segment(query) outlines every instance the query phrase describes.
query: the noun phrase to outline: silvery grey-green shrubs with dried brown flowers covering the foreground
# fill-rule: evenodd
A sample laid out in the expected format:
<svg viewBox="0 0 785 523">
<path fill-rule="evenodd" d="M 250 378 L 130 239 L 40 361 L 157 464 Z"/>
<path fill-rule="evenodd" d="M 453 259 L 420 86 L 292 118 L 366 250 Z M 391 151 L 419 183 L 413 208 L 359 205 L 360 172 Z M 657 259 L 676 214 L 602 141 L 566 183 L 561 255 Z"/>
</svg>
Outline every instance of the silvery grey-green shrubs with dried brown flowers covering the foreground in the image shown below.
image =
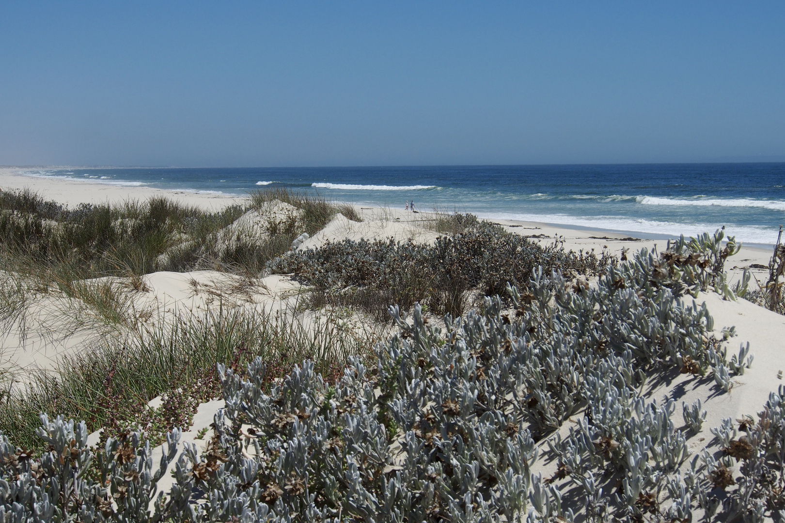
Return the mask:
<svg viewBox="0 0 785 523">
<path fill-rule="evenodd" d="M 351 358 L 337 383 L 326 383 L 311 361 L 270 389 L 261 358 L 243 375 L 219 366 L 226 407 L 214 438 L 201 454 L 188 445 L 172 495 L 134 518 L 534 523 L 572 521 L 582 511 L 588 521 L 689 521 L 698 510 L 717 521 L 779 518 L 785 387 L 757 425 L 747 423 L 745 437 L 728 420 L 712 431 L 717 455 L 688 463 L 687 436 L 671 419 L 675 402 L 641 396 L 646 377 L 669 368 L 728 372 L 706 309 L 674 299 L 692 281 L 658 275 L 667 267 L 659 260 L 642 252 L 596 287 L 539 271 L 524 292 L 509 289 L 512 312 L 488 297 L 480 311 L 444 318 L 444 329 L 429 325 L 420 307 L 411 318 L 392 307 L 400 334 L 375 347 L 375 366 Z M 703 417 L 699 405 L 688 410 L 685 419 Z M 557 433 L 570 416 L 578 423 Z M 134 456 L 148 456 L 130 438 Z M 5 449 L 3 456 L 19 452 Z M 79 447 L 76 456 L 86 452 Z M 557 459 L 552 478 L 532 474 L 543 454 Z M 743 478 L 726 490 L 729 459 L 743 461 Z M 12 461 L 3 458 L 4 481 L 14 477 Z M 61 470 L 56 464 L 50 474 Z M 133 473 L 122 478 L 136 481 Z M 133 507 L 152 499 L 152 487 L 123 491 L 117 479 L 101 491 L 105 481 L 83 481 L 96 499 L 125 492 L 138 499 L 123 498 Z M 17 491 L 14 505 L 6 492 L 0 488 L 0 510 L 19 514 L 10 521 L 36 521 L 31 498 Z M 119 505 L 104 509 L 79 518 L 122 521 Z"/>
</svg>

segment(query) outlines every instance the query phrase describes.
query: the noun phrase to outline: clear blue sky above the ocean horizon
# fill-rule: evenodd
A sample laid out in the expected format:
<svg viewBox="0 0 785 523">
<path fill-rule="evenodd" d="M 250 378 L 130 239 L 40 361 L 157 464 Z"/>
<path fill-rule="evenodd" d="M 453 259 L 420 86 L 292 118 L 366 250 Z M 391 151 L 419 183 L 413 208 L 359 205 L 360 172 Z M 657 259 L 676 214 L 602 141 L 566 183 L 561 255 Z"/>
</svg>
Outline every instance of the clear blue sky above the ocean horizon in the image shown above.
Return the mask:
<svg viewBox="0 0 785 523">
<path fill-rule="evenodd" d="M 785 160 L 785 2 L 2 2 L 0 165 Z"/>
</svg>

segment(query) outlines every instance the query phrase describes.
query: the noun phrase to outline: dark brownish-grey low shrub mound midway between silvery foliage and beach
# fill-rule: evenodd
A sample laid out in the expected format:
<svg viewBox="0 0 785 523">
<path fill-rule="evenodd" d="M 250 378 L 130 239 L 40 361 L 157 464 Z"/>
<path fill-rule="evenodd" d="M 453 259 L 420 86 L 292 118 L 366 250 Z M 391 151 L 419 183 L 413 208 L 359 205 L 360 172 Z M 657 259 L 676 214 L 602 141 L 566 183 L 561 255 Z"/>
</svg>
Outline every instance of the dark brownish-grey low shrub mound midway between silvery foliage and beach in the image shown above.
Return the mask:
<svg viewBox="0 0 785 523">
<path fill-rule="evenodd" d="M 385 321 L 388 303 L 402 311 L 421 303 L 431 314 L 458 316 L 484 296 L 506 296 L 508 282 L 526 286 L 535 267 L 573 279 L 601 274 L 615 263 L 607 253 L 571 252 L 558 242 L 542 246 L 471 215 L 450 220 L 462 232 L 440 236 L 433 245 L 328 242 L 279 256 L 267 270 L 309 285 L 313 307 L 352 307 Z"/>
</svg>

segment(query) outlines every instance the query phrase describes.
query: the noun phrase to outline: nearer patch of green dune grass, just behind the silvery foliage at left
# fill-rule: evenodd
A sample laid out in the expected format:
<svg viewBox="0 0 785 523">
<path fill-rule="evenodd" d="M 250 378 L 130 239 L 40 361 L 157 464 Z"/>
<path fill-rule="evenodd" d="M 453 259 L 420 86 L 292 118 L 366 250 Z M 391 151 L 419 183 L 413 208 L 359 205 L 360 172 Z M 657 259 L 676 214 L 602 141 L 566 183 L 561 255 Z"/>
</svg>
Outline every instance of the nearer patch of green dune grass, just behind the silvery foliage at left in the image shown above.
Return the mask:
<svg viewBox="0 0 785 523">
<path fill-rule="evenodd" d="M 38 413 L 59 412 L 86 419 L 89 430 L 105 427 L 106 434 L 141 423 L 155 439 L 182 424 L 200 401 L 220 396 L 219 362 L 242 372 L 261 356 L 272 380 L 312 359 L 319 372 L 334 377 L 347 355 L 367 355 L 380 337 L 347 329 L 334 314 L 304 325 L 290 313 L 219 308 L 201 317 L 159 317 L 129 336 L 110 336 L 61 361 L 57 372 L 39 372 L 28 387 L 5 390 L 0 431 L 31 447 L 38 441 Z M 183 410 L 182 416 L 169 423 L 155 419 L 146 404 L 159 394 L 169 400 L 163 410 Z"/>
</svg>

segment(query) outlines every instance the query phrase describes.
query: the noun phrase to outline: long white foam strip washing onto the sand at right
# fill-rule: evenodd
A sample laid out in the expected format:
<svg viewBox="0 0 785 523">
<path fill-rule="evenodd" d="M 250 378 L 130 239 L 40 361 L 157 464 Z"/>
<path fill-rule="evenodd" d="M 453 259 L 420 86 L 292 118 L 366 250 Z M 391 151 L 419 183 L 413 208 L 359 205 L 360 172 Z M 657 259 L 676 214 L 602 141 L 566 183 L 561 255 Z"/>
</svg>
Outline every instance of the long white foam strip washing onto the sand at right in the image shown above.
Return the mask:
<svg viewBox="0 0 785 523">
<path fill-rule="evenodd" d="M 599 231 L 664 234 L 673 237 L 677 237 L 680 234 L 695 236 L 696 234 L 712 233 L 717 230 L 717 225 L 710 223 L 677 223 L 622 216 L 570 216 L 567 214 L 522 214 L 512 212 L 478 212 L 477 216 L 493 220 L 553 223 L 554 225 L 573 225 Z M 739 242 L 773 245 L 776 242 L 777 230 L 772 227 L 756 225 L 729 225 L 725 227 L 725 236 L 736 236 Z"/>
</svg>

